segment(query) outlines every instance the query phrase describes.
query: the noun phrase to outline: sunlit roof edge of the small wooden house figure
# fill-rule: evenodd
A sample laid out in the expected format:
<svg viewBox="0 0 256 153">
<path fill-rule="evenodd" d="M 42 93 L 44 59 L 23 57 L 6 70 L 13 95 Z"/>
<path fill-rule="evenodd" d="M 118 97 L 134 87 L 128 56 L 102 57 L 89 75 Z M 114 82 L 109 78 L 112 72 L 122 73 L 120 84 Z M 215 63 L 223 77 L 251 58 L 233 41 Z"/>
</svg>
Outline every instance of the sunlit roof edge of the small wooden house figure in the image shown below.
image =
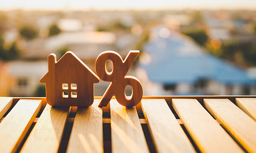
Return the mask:
<svg viewBox="0 0 256 153">
<path fill-rule="evenodd" d="M 56 60 L 56 55 L 55 54 L 51 54 L 54 56 L 55 60 Z M 49 56 L 51 56 L 49 55 Z M 84 64 L 84 62 L 81 61 L 81 59 L 79 59 L 79 57 L 76 56 L 76 54 L 74 54 L 72 51 L 67 51 L 62 57 L 61 59 L 59 59 L 55 64 L 60 64 L 62 60 L 64 60 L 67 57 L 73 57 L 75 58 L 81 65 L 83 65 L 91 74 L 91 76 L 93 76 L 94 79 L 96 79 L 99 82 L 99 77 L 87 66 Z M 65 63 L 68 64 L 68 63 Z M 49 71 L 47 72 L 47 74 L 44 75 L 44 77 L 41 78 L 40 82 L 45 82 L 45 78 L 49 76 Z M 95 82 L 95 81 L 93 81 Z"/>
</svg>

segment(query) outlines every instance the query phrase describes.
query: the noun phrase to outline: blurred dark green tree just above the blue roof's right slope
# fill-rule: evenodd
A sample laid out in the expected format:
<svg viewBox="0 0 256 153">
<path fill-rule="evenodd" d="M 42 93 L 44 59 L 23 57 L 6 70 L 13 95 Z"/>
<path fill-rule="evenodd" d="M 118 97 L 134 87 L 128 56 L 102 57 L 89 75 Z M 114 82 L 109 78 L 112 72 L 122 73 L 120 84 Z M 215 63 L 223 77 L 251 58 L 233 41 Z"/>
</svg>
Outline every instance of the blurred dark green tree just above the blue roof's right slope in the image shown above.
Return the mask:
<svg viewBox="0 0 256 153">
<path fill-rule="evenodd" d="M 205 45 L 208 40 L 207 32 L 202 28 L 188 28 L 181 30 L 181 33 L 192 37 L 200 45 Z"/>
</svg>

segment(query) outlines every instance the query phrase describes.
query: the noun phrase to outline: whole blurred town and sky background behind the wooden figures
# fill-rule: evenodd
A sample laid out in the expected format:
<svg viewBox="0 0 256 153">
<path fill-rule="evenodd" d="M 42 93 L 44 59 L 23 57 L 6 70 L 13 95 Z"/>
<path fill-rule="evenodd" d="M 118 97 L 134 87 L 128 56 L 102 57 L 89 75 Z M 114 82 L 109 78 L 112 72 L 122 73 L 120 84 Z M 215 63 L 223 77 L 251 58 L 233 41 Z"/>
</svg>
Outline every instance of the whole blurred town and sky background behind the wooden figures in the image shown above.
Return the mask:
<svg viewBox="0 0 256 153">
<path fill-rule="evenodd" d="M 0 96 L 45 96 L 51 53 L 73 51 L 95 72 L 107 50 L 140 50 L 128 75 L 144 96 L 255 95 L 256 1 L 0 1 Z"/>
</svg>

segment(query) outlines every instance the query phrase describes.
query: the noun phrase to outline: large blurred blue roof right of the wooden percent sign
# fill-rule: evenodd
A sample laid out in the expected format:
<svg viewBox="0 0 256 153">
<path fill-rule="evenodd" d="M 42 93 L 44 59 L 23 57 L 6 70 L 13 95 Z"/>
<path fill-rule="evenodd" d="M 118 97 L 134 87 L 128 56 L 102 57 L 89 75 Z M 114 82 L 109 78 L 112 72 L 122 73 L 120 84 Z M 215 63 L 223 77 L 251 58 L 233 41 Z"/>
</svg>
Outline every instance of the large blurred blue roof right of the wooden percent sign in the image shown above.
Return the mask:
<svg viewBox="0 0 256 153">
<path fill-rule="evenodd" d="M 200 78 L 224 84 L 250 84 L 255 80 L 244 69 L 206 53 L 189 37 L 171 31 L 170 37 L 157 37 L 144 47 L 151 61 L 140 62 L 152 82 L 195 83 Z"/>
</svg>

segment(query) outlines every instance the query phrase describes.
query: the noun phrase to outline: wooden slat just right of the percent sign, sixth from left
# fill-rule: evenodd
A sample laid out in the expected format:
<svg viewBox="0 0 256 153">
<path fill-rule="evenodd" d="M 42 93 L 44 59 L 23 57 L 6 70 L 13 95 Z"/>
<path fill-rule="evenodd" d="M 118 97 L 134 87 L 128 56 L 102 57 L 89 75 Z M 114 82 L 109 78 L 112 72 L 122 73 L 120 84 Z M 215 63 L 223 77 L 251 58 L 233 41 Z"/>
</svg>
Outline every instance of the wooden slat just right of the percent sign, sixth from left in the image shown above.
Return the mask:
<svg viewBox="0 0 256 153">
<path fill-rule="evenodd" d="M 142 99 L 141 106 L 157 152 L 195 152 L 164 99 Z"/>
</svg>

